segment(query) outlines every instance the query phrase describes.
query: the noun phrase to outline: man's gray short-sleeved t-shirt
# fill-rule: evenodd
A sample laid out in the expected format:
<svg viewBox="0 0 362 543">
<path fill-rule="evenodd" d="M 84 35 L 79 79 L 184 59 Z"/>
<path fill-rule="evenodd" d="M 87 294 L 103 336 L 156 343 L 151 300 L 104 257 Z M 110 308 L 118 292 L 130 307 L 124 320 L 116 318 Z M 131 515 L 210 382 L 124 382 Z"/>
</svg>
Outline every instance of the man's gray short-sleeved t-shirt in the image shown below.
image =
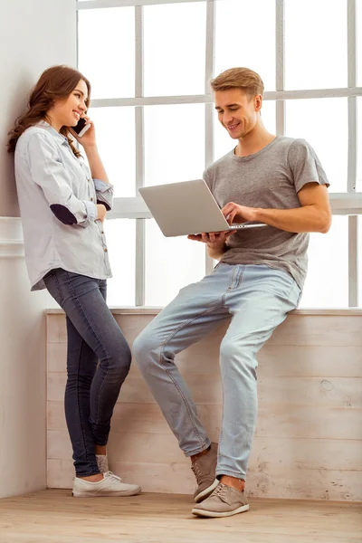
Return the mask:
<svg viewBox="0 0 362 543">
<path fill-rule="evenodd" d="M 304 139 L 277 136 L 248 157 L 231 151 L 204 173 L 220 207 L 229 202 L 266 209 L 300 207 L 298 192 L 310 182 L 329 186 L 319 159 Z M 284 232 L 272 226 L 250 228 L 231 235 L 222 262 L 266 264 L 291 273 L 303 287 L 307 273 L 309 233 Z"/>
</svg>

